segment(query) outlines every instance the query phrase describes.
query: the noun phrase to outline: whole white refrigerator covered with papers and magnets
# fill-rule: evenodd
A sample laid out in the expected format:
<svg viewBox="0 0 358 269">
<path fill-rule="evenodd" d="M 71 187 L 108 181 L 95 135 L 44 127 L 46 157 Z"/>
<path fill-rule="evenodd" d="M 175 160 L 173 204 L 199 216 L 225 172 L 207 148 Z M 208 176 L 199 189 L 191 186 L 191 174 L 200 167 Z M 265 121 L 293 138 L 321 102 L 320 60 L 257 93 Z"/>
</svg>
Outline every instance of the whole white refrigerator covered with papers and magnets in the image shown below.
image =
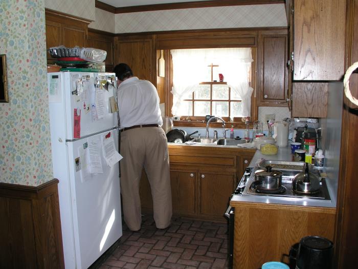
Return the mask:
<svg viewBox="0 0 358 269">
<path fill-rule="evenodd" d="M 48 94 L 65 268 L 87 268 L 122 236 L 115 74 L 48 73 Z"/>
</svg>

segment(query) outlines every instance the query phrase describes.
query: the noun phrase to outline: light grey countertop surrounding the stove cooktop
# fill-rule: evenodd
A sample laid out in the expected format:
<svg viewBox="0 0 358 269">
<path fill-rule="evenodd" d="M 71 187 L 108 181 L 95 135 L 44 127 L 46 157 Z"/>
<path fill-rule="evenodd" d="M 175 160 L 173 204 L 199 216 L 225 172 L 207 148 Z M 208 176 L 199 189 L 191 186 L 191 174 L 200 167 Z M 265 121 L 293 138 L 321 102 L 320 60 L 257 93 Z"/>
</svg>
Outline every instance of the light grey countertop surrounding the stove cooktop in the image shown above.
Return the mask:
<svg viewBox="0 0 358 269">
<path fill-rule="evenodd" d="M 266 160 L 282 160 L 293 161 L 290 147 L 279 148 L 276 155 L 263 155 L 259 150 L 256 151 L 252 158 L 249 167 L 255 167 L 262 159 Z M 323 169 L 324 172 L 324 169 Z M 286 205 L 301 205 L 301 206 L 321 206 L 325 208 L 335 208 L 337 204 L 337 190 L 333 189 L 330 179 L 326 177 L 327 188 L 330 196 L 329 200 L 317 200 L 306 198 L 286 198 L 274 196 L 259 196 L 259 195 L 234 195 L 230 201 L 231 206 L 235 206 L 236 202 L 256 202 L 256 203 L 273 203 L 273 204 L 286 204 Z M 246 188 L 249 188 L 247 184 Z"/>
</svg>

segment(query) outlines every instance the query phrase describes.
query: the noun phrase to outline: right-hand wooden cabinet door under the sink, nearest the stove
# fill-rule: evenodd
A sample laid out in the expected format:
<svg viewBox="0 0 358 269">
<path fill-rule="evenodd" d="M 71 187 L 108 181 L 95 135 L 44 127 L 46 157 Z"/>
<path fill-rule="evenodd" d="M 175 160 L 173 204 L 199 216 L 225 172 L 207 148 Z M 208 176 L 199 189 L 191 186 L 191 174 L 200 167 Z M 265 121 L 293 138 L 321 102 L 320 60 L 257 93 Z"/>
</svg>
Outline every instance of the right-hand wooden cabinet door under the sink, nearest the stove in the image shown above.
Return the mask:
<svg viewBox="0 0 358 269">
<path fill-rule="evenodd" d="M 199 216 L 202 218 L 225 220 L 223 214 L 234 192 L 235 173 L 200 171 L 199 173 Z"/>
</svg>

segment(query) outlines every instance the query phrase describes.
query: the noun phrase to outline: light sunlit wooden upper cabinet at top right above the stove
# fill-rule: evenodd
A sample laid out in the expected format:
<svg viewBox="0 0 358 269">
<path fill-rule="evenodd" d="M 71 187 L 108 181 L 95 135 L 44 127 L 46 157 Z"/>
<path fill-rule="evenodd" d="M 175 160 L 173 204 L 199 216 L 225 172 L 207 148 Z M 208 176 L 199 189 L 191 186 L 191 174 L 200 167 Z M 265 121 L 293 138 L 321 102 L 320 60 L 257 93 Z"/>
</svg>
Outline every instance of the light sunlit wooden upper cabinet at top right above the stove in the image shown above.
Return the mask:
<svg viewBox="0 0 358 269">
<path fill-rule="evenodd" d="M 292 1 L 293 80 L 341 80 L 345 71 L 346 1 Z"/>
</svg>

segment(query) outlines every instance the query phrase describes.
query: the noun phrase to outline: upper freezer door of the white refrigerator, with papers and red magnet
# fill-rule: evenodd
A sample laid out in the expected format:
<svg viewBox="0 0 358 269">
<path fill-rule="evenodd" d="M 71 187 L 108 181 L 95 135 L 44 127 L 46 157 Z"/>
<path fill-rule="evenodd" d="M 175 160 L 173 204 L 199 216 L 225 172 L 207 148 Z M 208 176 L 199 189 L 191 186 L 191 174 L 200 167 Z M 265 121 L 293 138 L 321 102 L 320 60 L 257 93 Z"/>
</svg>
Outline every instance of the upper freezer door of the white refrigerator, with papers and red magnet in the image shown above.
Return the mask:
<svg viewBox="0 0 358 269">
<path fill-rule="evenodd" d="M 117 101 L 116 87 L 106 82 L 115 81 L 115 74 L 63 73 L 66 140 L 80 138 L 109 130 L 118 125 L 117 112 L 112 112 L 110 101 Z"/>
</svg>

